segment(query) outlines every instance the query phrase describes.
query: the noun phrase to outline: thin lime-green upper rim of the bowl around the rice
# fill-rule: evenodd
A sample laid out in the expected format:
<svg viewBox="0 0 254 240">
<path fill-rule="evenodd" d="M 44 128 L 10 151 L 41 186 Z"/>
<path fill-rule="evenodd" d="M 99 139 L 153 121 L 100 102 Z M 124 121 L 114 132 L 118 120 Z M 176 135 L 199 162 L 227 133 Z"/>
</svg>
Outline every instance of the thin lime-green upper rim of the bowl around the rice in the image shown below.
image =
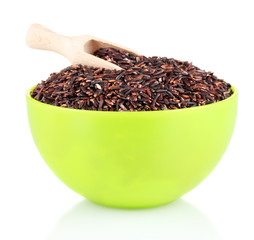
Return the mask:
<svg viewBox="0 0 254 240">
<path fill-rule="evenodd" d="M 59 110 L 59 111 L 68 111 L 68 112 L 77 112 L 77 113 L 81 113 L 81 112 L 84 112 L 84 113 L 95 113 L 95 114 L 155 114 L 155 113 L 158 113 L 158 112 L 185 112 L 185 111 L 193 111 L 193 110 L 197 110 L 197 109 L 204 109 L 204 108 L 212 108 L 214 107 L 215 105 L 218 106 L 219 104 L 224 104 L 226 102 L 230 102 L 230 101 L 233 101 L 235 98 L 238 97 L 238 90 L 235 86 L 232 86 L 231 85 L 231 89 L 233 91 L 233 94 L 224 99 L 224 100 L 221 100 L 221 101 L 218 101 L 218 102 L 214 102 L 214 103 L 210 103 L 210 104 L 206 104 L 206 105 L 202 105 L 202 106 L 195 106 L 195 107 L 189 107 L 189 108 L 178 108 L 178 109 L 168 109 L 168 110 L 155 110 L 155 111 L 96 111 L 96 110 L 84 110 L 84 109 L 74 109 L 74 108 L 65 108 L 65 107 L 60 107 L 60 106 L 54 106 L 54 105 L 50 105 L 50 104 L 47 104 L 47 103 L 43 103 L 43 102 L 40 102 L 38 100 L 35 100 L 34 98 L 32 98 L 31 96 L 31 92 L 33 91 L 33 89 L 36 87 L 33 86 L 33 87 L 30 87 L 27 91 L 26 91 L 26 99 L 27 101 L 29 102 L 32 102 L 32 103 L 35 103 L 35 104 L 38 104 L 40 105 L 41 107 L 45 107 L 45 108 L 49 108 L 49 109 L 52 109 L 52 110 Z"/>
</svg>

